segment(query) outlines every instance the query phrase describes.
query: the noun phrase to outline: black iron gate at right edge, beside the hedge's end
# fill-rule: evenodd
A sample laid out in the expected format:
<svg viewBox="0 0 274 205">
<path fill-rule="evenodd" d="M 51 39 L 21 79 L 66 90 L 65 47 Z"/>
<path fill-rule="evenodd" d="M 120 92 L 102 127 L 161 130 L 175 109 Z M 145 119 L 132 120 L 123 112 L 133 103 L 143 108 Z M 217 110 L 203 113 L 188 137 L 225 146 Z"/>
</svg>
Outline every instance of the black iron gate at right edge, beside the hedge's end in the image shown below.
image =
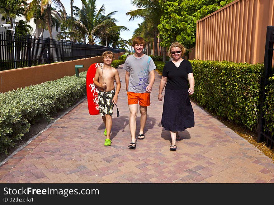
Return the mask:
<svg viewBox="0 0 274 205">
<path fill-rule="evenodd" d="M 264 73 L 261 78 L 261 96 L 260 96 L 260 112 L 259 112 L 259 127 L 258 127 L 258 137 L 257 142 L 264 141 L 270 149 L 274 145 L 274 136 L 272 131 L 269 129 L 268 125 L 272 124 L 270 120 L 263 118 L 264 116 L 264 106 L 267 106 L 265 103 L 266 96 L 265 93 L 267 90 L 265 87 L 268 85 L 268 78 L 273 75 L 274 70 L 272 69 L 272 58 L 273 58 L 273 45 L 274 45 L 274 26 L 267 27 L 266 35 L 266 46 L 265 46 L 265 56 L 264 56 Z"/>
</svg>

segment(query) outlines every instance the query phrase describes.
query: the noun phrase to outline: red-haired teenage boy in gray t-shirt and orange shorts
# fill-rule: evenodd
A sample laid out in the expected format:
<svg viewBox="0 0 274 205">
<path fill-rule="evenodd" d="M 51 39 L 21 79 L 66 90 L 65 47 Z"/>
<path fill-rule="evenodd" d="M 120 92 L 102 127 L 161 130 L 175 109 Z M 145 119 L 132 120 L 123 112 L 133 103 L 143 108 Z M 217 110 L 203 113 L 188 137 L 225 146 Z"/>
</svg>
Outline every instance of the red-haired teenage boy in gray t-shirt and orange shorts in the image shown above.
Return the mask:
<svg viewBox="0 0 274 205">
<path fill-rule="evenodd" d="M 144 126 L 147 120 L 147 107 L 150 105 L 150 92 L 155 80 L 154 69 L 156 66 L 150 56 L 143 53 L 145 41 L 142 37 L 136 37 L 132 41 L 135 53 L 125 60 L 123 69 L 125 72 L 125 86 L 130 110 L 130 149 L 136 148 L 136 117 L 137 104 L 140 107 L 140 130 L 138 139 L 144 139 Z M 150 78 L 149 78 L 150 76 Z"/>
</svg>

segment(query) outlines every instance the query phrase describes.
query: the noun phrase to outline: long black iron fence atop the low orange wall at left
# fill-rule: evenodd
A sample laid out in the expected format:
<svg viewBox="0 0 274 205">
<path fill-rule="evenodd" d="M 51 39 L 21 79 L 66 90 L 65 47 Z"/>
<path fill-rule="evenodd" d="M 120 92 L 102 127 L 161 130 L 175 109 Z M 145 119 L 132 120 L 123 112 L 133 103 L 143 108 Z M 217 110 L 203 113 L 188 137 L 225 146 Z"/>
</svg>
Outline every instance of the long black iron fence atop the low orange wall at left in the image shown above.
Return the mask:
<svg viewBox="0 0 274 205">
<path fill-rule="evenodd" d="M 0 34 L 0 71 L 101 56 L 104 51 L 124 52 L 104 46 Z"/>
</svg>

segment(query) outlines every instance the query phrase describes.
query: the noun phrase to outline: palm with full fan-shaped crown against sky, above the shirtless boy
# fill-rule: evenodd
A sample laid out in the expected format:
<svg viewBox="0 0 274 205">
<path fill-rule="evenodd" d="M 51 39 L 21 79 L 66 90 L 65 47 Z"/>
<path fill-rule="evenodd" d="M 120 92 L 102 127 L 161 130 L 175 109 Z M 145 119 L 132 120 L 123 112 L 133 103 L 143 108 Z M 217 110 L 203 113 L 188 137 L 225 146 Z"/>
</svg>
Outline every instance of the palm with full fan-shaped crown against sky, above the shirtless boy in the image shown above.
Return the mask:
<svg viewBox="0 0 274 205">
<path fill-rule="evenodd" d="M 106 16 L 105 13 L 105 5 L 97 11 L 96 9 L 96 0 L 81 0 L 83 3 L 83 7 L 73 7 L 75 19 L 73 22 L 73 26 L 75 27 L 75 31 L 80 31 L 84 35 L 84 41 L 87 37 L 88 42 L 90 44 L 95 44 L 96 40 L 100 40 L 105 38 L 110 32 L 116 31 L 125 31 L 128 30 L 124 26 L 116 26 L 117 20 L 112 18 L 112 16 L 117 12 L 110 12 Z"/>
</svg>

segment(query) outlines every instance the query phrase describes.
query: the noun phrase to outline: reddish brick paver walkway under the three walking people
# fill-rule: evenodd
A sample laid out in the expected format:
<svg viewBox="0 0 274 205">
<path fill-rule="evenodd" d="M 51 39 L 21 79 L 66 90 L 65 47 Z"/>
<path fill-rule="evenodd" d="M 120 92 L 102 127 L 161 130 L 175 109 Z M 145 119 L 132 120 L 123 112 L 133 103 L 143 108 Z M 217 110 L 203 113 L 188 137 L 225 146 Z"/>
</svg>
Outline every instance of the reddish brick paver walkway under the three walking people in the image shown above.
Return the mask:
<svg viewBox="0 0 274 205">
<path fill-rule="evenodd" d="M 274 164 L 199 106 L 195 127 L 179 132 L 183 140 L 169 151 L 170 134 L 161 127 L 163 102 L 156 80 L 145 139 L 130 143 L 125 71 L 114 109 L 112 145 L 103 146 L 101 116 L 89 115 L 83 100 L 0 167 L 1 183 L 274 183 Z M 139 131 L 140 114 L 137 116 Z"/>
</svg>

